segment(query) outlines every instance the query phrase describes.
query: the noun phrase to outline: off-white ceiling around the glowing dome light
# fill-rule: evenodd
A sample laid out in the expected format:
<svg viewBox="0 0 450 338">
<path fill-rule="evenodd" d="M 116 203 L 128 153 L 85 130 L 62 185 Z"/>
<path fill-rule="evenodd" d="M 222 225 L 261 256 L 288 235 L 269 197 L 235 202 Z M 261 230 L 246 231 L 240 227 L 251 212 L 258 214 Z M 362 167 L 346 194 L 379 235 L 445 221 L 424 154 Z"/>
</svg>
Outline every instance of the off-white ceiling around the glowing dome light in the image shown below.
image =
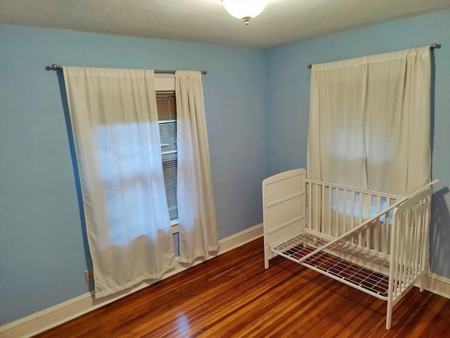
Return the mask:
<svg viewBox="0 0 450 338">
<path fill-rule="evenodd" d="M 0 0 L 0 23 L 268 48 L 444 8 L 450 0 L 269 0 L 245 26 L 221 0 Z"/>
</svg>

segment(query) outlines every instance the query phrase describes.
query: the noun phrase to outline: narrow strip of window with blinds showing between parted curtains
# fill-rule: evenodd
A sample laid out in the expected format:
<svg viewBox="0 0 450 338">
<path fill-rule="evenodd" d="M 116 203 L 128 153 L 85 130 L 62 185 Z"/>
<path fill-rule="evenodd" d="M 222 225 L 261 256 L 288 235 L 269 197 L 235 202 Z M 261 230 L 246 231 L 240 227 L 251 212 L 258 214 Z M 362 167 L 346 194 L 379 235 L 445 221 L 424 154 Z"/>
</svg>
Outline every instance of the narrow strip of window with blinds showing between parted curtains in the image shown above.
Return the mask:
<svg viewBox="0 0 450 338">
<path fill-rule="evenodd" d="M 170 220 L 178 219 L 176 204 L 176 101 L 175 92 L 156 93 L 158 123 L 160 126 L 162 171 L 169 207 Z"/>
</svg>

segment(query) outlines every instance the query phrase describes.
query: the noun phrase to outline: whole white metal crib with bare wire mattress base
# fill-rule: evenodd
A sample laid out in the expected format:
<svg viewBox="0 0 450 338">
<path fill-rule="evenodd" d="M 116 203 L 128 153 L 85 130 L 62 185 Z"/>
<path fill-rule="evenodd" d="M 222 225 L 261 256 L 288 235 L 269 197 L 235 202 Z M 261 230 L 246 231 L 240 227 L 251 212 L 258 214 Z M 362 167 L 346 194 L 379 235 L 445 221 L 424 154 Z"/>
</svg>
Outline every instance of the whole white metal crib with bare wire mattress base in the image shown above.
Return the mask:
<svg viewBox="0 0 450 338">
<path fill-rule="evenodd" d="M 387 301 L 392 307 L 415 282 L 423 290 L 433 181 L 402 197 L 306 178 L 304 169 L 262 185 L 264 266 L 281 255 Z"/>
</svg>

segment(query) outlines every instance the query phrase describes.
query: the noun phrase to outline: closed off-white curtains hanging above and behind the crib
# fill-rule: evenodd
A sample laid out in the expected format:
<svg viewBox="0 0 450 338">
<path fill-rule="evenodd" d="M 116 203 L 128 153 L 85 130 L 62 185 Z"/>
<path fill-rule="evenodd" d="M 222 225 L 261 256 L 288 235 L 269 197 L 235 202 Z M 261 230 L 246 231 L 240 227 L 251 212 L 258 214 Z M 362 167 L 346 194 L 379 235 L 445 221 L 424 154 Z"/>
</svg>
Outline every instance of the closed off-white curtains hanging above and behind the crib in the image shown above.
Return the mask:
<svg viewBox="0 0 450 338">
<path fill-rule="evenodd" d="M 309 178 L 407 195 L 430 182 L 430 48 L 313 65 Z"/>
</svg>

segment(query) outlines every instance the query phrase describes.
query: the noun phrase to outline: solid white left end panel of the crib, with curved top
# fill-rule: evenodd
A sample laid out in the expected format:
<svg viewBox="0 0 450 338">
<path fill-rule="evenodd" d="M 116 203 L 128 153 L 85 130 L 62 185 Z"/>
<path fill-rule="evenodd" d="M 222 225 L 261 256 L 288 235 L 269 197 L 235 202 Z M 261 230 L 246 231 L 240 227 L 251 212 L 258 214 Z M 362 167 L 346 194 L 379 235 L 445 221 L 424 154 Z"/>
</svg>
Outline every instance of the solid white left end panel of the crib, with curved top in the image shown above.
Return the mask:
<svg viewBox="0 0 450 338">
<path fill-rule="evenodd" d="M 306 221 L 305 169 L 284 171 L 262 182 L 264 266 L 274 257 L 271 246 L 304 230 Z"/>
</svg>

